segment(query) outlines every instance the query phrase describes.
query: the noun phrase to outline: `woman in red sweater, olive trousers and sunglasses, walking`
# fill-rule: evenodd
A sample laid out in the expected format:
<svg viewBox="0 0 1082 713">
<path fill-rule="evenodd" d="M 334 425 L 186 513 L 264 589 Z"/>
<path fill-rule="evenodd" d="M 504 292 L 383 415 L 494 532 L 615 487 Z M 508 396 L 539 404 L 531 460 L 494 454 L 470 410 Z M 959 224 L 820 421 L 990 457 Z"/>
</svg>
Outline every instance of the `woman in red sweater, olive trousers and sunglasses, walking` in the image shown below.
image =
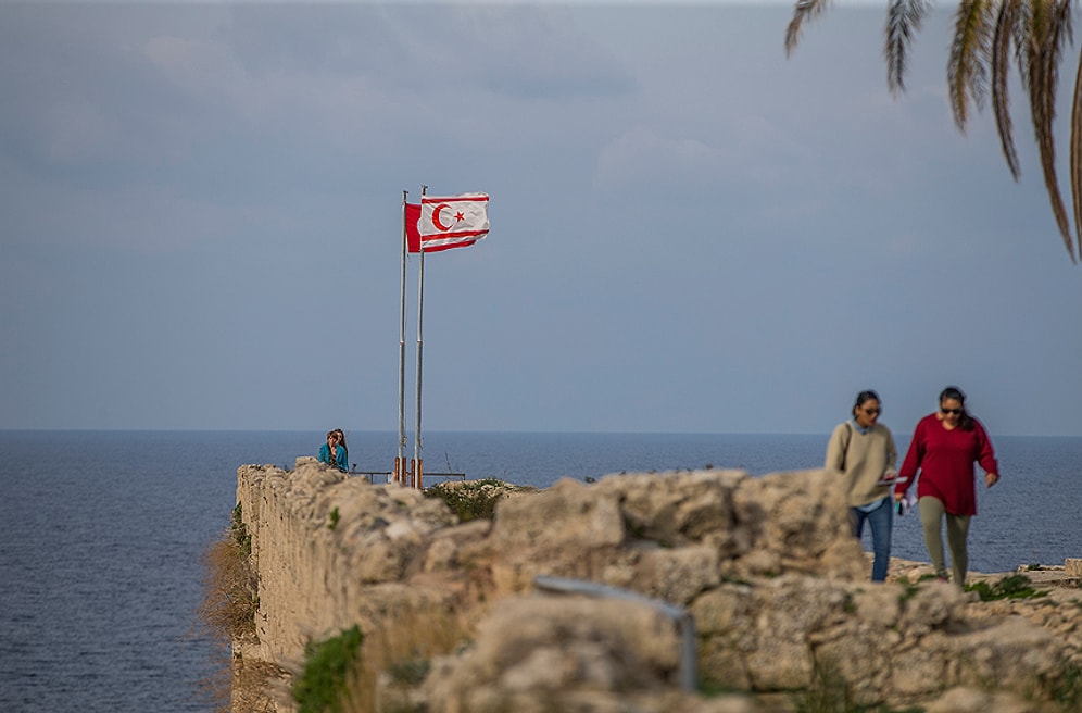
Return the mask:
<svg viewBox="0 0 1082 713">
<path fill-rule="evenodd" d="M 918 508 L 924 529 L 924 547 L 935 566 L 935 575 L 946 580 L 943 560 L 943 521 L 946 520 L 951 568 L 959 588 L 966 584 L 969 554 L 969 518 L 977 514 L 973 463 L 984 470 L 987 487 L 999 481 L 999 465 L 987 431 L 966 411 L 966 395 L 948 386 L 940 393 L 940 410 L 917 423 L 909 452 L 898 472 L 894 500 L 901 501 L 917 472 Z"/>
</svg>

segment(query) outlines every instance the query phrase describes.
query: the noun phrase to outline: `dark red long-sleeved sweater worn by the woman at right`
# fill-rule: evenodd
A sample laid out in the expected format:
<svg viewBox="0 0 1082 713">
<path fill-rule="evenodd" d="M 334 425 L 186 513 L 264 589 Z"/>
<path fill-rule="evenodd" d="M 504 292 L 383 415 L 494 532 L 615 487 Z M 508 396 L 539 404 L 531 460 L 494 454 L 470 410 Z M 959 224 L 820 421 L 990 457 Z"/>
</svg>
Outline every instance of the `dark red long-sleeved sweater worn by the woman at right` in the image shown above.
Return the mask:
<svg viewBox="0 0 1082 713">
<path fill-rule="evenodd" d="M 947 430 L 934 413 L 929 414 L 913 431 L 909 452 L 898 471 L 898 476 L 906 480 L 894 490 L 904 493 L 919 470 L 918 498 L 938 499 L 951 515 L 976 515 L 974 461 L 986 473 L 999 474 L 999 464 L 984 426 L 974 418 L 972 430 L 963 430 L 960 426 Z"/>
</svg>

